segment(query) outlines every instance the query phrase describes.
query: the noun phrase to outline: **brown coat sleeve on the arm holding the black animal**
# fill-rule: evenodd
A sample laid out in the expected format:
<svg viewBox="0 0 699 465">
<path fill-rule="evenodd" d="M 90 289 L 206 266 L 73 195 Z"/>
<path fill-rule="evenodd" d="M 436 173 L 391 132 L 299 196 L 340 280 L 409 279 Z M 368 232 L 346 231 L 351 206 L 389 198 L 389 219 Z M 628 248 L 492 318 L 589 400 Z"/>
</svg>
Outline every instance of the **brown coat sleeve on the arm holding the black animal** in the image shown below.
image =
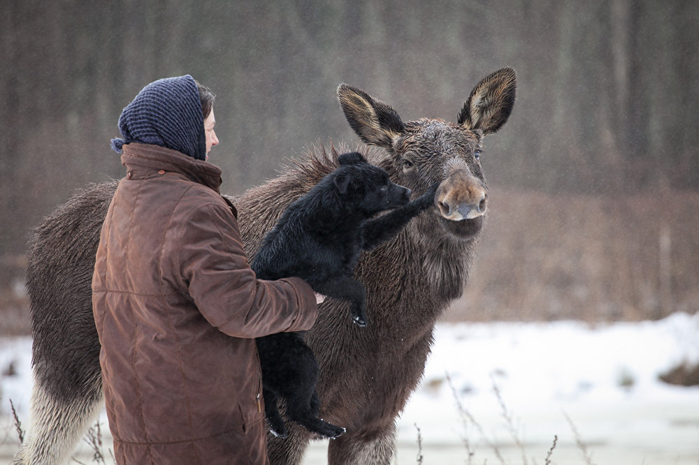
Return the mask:
<svg viewBox="0 0 699 465">
<path fill-rule="evenodd" d="M 233 337 L 261 337 L 308 330 L 318 307 L 303 279 L 257 279 L 229 208 L 206 205 L 182 225 L 176 247 L 178 270 L 201 314 Z"/>
</svg>

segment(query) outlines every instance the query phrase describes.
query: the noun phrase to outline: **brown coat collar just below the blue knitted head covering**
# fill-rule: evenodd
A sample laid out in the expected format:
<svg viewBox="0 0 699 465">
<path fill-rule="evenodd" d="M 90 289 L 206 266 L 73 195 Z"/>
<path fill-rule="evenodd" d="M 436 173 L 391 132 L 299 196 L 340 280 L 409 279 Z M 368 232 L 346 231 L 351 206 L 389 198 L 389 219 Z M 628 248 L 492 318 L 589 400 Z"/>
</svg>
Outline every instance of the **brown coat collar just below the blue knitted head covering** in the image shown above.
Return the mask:
<svg viewBox="0 0 699 465">
<path fill-rule="evenodd" d="M 122 165 L 127 168 L 129 179 L 145 179 L 164 170 L 176 172 L 221 193 L 221 168 L 208 161 L 195 160 L 166 147 L 139 142 L 126 144 L 122 149 Z"/>
</svg>

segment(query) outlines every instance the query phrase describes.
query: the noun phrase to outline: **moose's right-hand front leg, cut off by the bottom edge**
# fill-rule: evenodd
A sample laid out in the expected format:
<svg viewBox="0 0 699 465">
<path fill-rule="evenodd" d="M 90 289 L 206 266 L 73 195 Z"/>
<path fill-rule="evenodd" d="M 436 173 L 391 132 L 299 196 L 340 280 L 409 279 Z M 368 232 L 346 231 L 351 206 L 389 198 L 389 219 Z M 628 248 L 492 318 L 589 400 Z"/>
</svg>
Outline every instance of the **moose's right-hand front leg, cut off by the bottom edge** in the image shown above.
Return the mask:
<svg viewBox="0 0 699 465">
<path fill-rule="evenodd" d="M 345 434 L 330 441 L 328 465 L 389 465 L 396 450 L 396 424 L 373 433 Z"/>
</svg>

